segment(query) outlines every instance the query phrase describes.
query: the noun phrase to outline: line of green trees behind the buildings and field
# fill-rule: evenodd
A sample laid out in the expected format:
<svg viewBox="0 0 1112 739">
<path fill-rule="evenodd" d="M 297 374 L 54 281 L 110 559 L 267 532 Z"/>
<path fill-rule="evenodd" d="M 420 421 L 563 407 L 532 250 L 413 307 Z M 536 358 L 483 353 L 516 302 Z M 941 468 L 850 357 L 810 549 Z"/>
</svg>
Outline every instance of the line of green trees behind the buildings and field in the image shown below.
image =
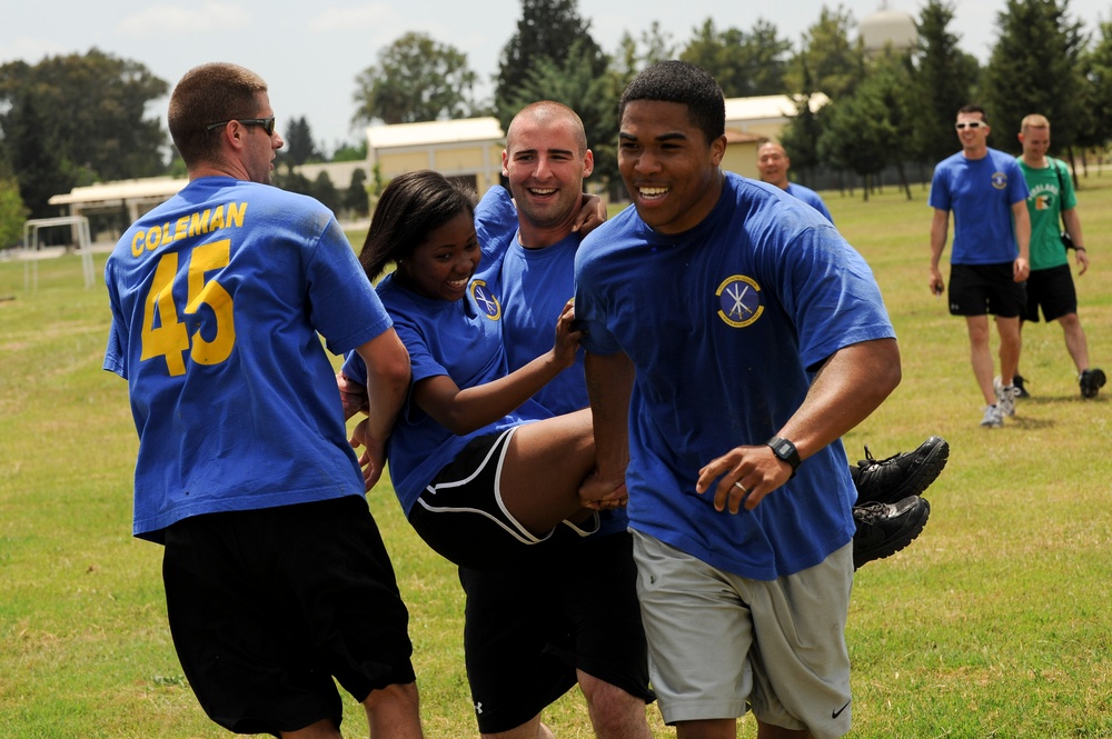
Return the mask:
<svg viewBox="0 0 1112 739">
<path fill-rule="evenodd" d="M 758 19 L 748 30 L 707 18 L 677 42 L 654 23 L 625 33 L 613 53 L 590 33 L 577 0 L 522 0 L 516 31 L 503 48 L 490 100 L 478 100 L 465 53 L 409 32 L 383 48 L 355 78 L 353 124 L 495 116 L 503 129 L 525 103 L 552 99 L 583 118 L 596 179 L 617 182 L 617 99 L 641 69 L 684 59 L 707 69 L 727 98 L 788 94 L 797 114 L 784 132 L 794 168 L 863 178 L 896 168 L 926 171 L 956 150 L 956 110 L 975 102 L 997 132 L 994 147 L 1017 152 L 1020 120 L 1041 112 L 1053 123 L 1055 152 L 1103 150 L 1112 141 L 1112 22 L 1088 28 L 1070 0 L 1007 0 L 997 14 L 986 64 L 962 50 L 951 30 L 954 4 L 927 0 L 912 49 L 866 54 L 856 21 L 842 6 L 824 7 L 798 44 Z M 145 116 L 169 84 L 143 64 L 92 49 L 85 54 L 0 67 L 0 247 L 18 239 L 11 221 L 57 214 L 52 194 L 98 181 L 181 173 L 160 119 Z M 825 93 L 812 110 L 806 100 Z M 337 188 L 309 182 L 295 168 L 325 160 L 305 118 L 282 129 L 287 146 L 276 184 L 315 194 L 334 209 L 360 208 L 363 180 Z M 366 157 L 366 142 L 334 159 Z M 374 178 L 373 178 L 374 179 Z M 922 179 L 922 178 L 920 178 Z M 379 183 L 380 184 L 380 183 Z M 867 197 L 867 187 L 865 188 Z M 909 197 L 911 192 L 909 189 Z"/>
</svg>

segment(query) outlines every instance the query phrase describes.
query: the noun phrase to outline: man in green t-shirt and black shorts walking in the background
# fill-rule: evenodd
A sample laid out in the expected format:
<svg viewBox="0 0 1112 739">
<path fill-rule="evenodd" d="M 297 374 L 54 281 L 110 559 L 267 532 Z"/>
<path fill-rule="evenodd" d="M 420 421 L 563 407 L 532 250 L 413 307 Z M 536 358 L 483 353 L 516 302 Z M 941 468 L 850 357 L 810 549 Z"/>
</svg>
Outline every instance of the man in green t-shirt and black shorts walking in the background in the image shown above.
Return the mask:
<svg viewBox="0 0 1112 739">
<path fill-rule="evenodd" d="M 1032 114 L 1020 124 L 1023 156 L 1020 169 L 1027 182 L 1027 212 L 1031 214 L 1031 277 L 1027 279 L 1027 307 L 1023 321 L 1039 321 L 1039 308 L 1048 322 L 1056 320 L 1065 333 L 1065 348 L 1078 368 L 1078 383 L 1083 398 L 1095 398 L 1104 386 L 1104 371 L 1089 366 L 1089 344 L 1078 319 L 1078 293 L 1070 273 L 1059 217 L 1073 242 L 1079 277 L 1089 269 L 1089 252 L 1081 234 L 1078 199 L 1065 163 L 1046 156 L 1050 148 L 1050 121 Z M 1021 322 L 1022 327 L 1022 322 Z M 1015 383 L 1022 387 L 1021 382 Z"/>
</svg>

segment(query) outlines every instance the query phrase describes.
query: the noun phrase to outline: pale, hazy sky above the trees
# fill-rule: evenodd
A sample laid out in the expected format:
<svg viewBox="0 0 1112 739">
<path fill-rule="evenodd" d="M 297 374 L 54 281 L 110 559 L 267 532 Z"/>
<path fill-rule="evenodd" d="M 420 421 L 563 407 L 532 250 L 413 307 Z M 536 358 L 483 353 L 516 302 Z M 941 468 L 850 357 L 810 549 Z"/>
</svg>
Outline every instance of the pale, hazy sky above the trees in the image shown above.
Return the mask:
<svg viewBox="0 0 1112 739">
<path fill-rule="evenodd" d="M 428 33 L 465 52 L 487 83 L 497 72 L 498 54 L 520 17 L 519 0 L 155 0 L 155 2 L 2 0 L 0 62 L 34 63 L 48 54 L 85 52 L 92 47 L 142 62 L 172 86 L 189 68 L 230 61 L 266 78 L 280 123 L 305 117 L 314 138 L 329 150 L 361 133 L 350 128 L 356 76 L 377 60 L 378 51 L 407 31 Z M 19 4 L 18 10 L 14 8 Z M 676 42 L 713 18 L 718 29 L 749 30 L 758 18 L 781 37 L 798 42 L 823 8 L 837 2 L 791 0 L 579 0 L 592 34 L 608 52 L 623 32 L 635 38 L 656 20 Z M 890 10 L 919 16 L 919 0 L 888 0 Z M 996 14 L 1005 0 L 957 0 L 951 29 L 965 51 L 986 60 L 996 36 Z M 856 20 L 881 7 L 881 0 L 843 0 Z M 106 10 L 106 7 L 112 10 Z M 1112 0 L 1072 0 L 1070 12 L 1093 29 L 1112 20 Z M 17 20 L 18 19 L 18 20 Z M 165 120 L 165 101 L 151 114 Z"/>
</svg>

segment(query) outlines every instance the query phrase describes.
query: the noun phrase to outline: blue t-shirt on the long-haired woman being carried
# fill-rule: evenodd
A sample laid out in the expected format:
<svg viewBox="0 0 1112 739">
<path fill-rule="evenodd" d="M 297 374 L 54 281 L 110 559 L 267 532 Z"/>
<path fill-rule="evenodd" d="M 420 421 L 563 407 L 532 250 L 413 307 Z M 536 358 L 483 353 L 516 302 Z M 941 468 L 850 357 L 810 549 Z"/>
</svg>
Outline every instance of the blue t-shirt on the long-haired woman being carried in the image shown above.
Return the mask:
<svg viewBox="0 0 1112 739">
<path fill-rule="evenodd" d="M 455 301 L 426 298 L 399 286 L 394 274 L 379 282 L 378 294 L 409 351 L 414 385 L 446 375 L 463 389 L 506 375 L 500 317 L 492 301 L 476 302 L 470 291 Z M 367 368 L 363 359 L 353 353 L 344 364 L 344 373 L 364 382 Z M 390 481 L 406 516 L 437 472 L 471 439 L 550 416 L 527 400 L 509 416 L 468 435 L 456 436 L 423 411 L 410 393 L 387 446 Z"/>
</svg>

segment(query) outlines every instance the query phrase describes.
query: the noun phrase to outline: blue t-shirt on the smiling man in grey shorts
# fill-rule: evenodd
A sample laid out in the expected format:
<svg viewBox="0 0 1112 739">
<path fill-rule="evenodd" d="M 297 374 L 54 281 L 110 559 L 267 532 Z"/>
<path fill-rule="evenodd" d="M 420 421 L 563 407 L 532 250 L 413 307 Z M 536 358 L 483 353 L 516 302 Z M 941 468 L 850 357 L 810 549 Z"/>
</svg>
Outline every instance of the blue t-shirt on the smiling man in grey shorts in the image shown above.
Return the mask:
<svg viewBox="0 0 1112 739">
<path fill-rule="evenodd" d="M 634 207 L 576 258 L 587 351 L 626 353 L 629 525 L 711 565 L 771 580 L 812 567 L 854 533 L 841 441 L 753 511 L 714 510 L 698 470 L 767 441 L 837 350 L 894 337 L 864 259 L 810 206 L 727 172 L 694 229 L 657 233 Z"/>
</svg>

